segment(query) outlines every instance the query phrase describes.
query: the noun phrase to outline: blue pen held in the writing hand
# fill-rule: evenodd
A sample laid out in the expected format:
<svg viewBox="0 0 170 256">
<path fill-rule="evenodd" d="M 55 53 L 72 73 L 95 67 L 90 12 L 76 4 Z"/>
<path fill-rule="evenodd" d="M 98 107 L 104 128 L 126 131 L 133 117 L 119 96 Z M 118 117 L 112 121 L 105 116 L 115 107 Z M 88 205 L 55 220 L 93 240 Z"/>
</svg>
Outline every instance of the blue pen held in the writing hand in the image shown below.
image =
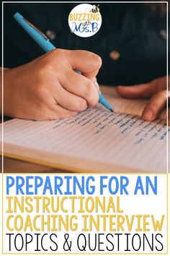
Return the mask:
<svg viewBox="0 0 170 256">
<path fill-rule="evenodd" d="M 19 25 L 22 26 L 22 28 L 30 35 L 30 37 L 35 40 L 35 42 L 45 51 L 51 51 L 55 49 L 55 46 L 53 46 L 52 43 L 50 43 L 50 40 L 46 35 L 44 35 L 40 30 L 37 29 L 34 25 L 32 25 L 30 22 L 24 19 L 21 14 L 18 12 L 14 14 L 14 19 L 17 20 Z M 78 70 L 75 70 L 77 73 L 81 74 Z M 101 103 L 103 106 L 105 106 L 110 111 L 113 111 L 111 106 L 109 106 L 109 103 L 107 100 L 103 97 L 101 93 L 99 93 L 99 103 Z"/>
</svg>

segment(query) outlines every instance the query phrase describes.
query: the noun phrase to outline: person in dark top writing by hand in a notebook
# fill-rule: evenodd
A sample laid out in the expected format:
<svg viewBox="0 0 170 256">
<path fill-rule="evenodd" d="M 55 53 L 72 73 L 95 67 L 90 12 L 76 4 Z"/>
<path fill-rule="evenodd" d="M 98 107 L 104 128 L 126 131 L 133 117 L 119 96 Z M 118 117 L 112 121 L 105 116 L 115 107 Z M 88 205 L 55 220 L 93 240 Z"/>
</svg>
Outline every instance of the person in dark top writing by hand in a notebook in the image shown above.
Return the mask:
<svg viewBox="0 0 170 256">
<path fill-rule="evenodd" d="M 5 30 L 5 42 L 11 41 L 16 49 L 7 51 L 5 44 L 4 67 L 9 67 L 4 69 L 5 115 L 34 120 L 73 116 L 99 101 L 97 77 L 99 84 L 118 85 L 117 92 L 122 97 L 151 98 L 142 117 L 146 121 L 157 118 L 166 106 L 164 5 L 103 4 L 100 7 L 102 28 L 97 35 L 86 39 L 73 36 L 63 25 L 73 4 L 55 4 L 56 8 L 50 4 L 35 4 L 34 7 L 32 10 L 31 4 L 8 4 L 4 9 L 8 19 L 4 24 L 12 27 L 10 33 Z M 153 7 L 159 9 L 159 13 Z M 23 46 L 18 46 L 17 38 L 12 35 L 13 31 L 22 34 L 22 29 L 12 20 L 17 11 L 33 21 L 43 15 L 45 24 L 40 24 L 40 29 L 46 30 L 54 43 L 56 33 L 61 49 L 40 56 L 42 52 L 27 35 L 22 36 Z M 53 18 L 49 19 L 45 13 Z M 40 20 L 35 20 L 37 27 Z M 110 25 L 111 20 L 113 25 Z M 124 20 L 126 22 L 122 22 Z M 58 25 L 53 30 L 47 29 L 53 27 L 52 24 Z M 80 70 L 82 75 L 76 74 L 74 69 Z"/>
</svg>

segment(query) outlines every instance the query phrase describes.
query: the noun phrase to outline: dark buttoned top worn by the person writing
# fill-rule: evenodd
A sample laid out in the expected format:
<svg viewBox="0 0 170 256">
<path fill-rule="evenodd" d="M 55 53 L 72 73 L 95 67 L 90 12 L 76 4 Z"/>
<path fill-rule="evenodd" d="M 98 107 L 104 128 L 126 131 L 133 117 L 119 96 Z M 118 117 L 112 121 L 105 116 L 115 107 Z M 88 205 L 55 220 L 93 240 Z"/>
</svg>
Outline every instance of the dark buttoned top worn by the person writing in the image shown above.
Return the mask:
<svg viewBox="0 0 170 256">
<path fill-rule="evenodd" d="M 4 67 L 17 67 L 44 54 L 14 20 L 15 12 L 56 37 L 57 48 L 84 49 L 102 57 L 99 83 L 107 85 L 148 82 L 166 75 L 166 16 L 149 14 L 144 4 L 99 4 L 102 27 L 90 38 L 71 33 L 68 14 L 77 4 L 4 4 Z M 169 19 L 170 20 L 170 19 Z M 111 51 L 120 54 L 113 60 Z"/>
</svg>

